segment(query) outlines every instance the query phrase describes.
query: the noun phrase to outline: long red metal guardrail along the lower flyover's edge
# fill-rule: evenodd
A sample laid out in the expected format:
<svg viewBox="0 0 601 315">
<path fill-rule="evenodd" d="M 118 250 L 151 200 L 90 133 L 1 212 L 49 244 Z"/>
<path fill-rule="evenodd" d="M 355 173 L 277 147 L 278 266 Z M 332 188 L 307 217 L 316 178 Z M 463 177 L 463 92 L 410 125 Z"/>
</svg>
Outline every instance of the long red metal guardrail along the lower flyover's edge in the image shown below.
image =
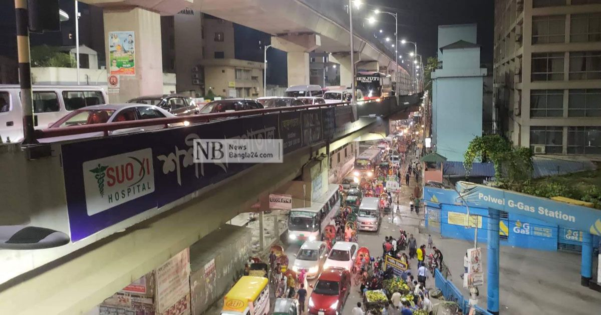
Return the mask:
<svg viewBox="0 0 601 315">
<path fill-rule="evenodd" d="M 210 113 L 201 115 L 191 116 L 179 116 L 169 118 L 154 118 L 144 119 L 141 121 L 120 121 L 120 122 L 106 122 L 103 124 L 83 125 L 83 126 L 70 126 L 62 128 L 46 128 L 41 130 L 35 130 L 36 139 L 43 139 L 49 137 L 59 136 L 70 136 L 73 134 L 83 133 L 94 133 L 102 131 L 104 136 L 108 136 L 109 131 L 120 130 L 125 128 L 136 128 L 146 127 L 154 125 L 165 125 L 165 128 L 169 128 L 169 124 L 184 123 L 188 124 L 199 124 L 203 122 L 209 122 L 215 119 L 243 117 L 252 115 L 264 115 L 266 113 L 281 113 L 281 112 L 296 112 L 297 110 L 308 110 L 308 109 L 319 109 L 324 107 L 336 107 L 336 106 L 347 106 L 349 102 L 333 103 L 333 104 L 318 104 L 318 105 L 305 105 L 305 106 L 290 106 L 290 107 L 274 107 L 268 109 L 250 109 L 250 110 L 239 110 L 237 112 L 225 112 L 225 113 Z M 186 125 L 188 125 L 186 124 Z"/>
</svg>

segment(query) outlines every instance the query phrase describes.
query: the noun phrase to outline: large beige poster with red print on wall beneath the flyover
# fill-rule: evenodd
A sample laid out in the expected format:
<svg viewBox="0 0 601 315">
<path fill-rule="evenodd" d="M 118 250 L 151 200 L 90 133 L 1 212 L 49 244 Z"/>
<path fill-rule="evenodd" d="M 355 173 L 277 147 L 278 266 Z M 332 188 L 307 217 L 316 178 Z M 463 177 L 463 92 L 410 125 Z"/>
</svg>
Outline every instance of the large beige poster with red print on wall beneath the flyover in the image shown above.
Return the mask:
<svg viewBox="0 0 601 315">
<path fill-rule="evenodd" d="M 156 269 L 159 315 L 190 314 L 190 249 L 186 248 Z"/>
</svg>

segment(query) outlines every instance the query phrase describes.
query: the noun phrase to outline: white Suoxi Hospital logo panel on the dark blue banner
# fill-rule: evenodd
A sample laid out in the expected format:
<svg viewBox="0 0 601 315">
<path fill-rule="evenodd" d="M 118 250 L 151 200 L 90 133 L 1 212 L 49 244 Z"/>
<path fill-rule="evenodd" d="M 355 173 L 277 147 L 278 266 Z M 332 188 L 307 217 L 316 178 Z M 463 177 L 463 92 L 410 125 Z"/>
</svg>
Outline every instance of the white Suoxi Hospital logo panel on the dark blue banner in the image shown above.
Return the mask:
<svg viewBox="0 0 601 315">
<path fill-rule="evenodd" d="M 152 149 L 128 152 L 84 163 L 88 215 L 154 191 Z"/>
</svg>

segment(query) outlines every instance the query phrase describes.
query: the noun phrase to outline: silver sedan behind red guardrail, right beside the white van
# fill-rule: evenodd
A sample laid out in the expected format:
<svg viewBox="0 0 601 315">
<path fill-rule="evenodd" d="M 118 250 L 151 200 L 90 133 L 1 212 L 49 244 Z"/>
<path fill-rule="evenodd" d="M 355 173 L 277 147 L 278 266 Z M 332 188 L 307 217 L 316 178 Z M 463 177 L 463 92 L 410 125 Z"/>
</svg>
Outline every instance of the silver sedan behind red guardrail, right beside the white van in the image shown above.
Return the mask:
<svg viewBox="0 0 601 315">
<path fill-rule="evenodd" d="M 69 128 L 71 126 L 103 124 L 107 122 L 121 121 L 139 121 L 144 119 L 175 117 L 172 113 L 153 105 L 144 104 L 105 104 L 87 106 L 58 119 L 50 124 L 49 129 Z M 183 123 L 169 124 L 169 127 L 184 125 Z M 144 127 L 124 128 L 109 131 L 109 134 L 133 133 L 138 131 L 158 130 L 165 127 L 165 124 L 150 125 Z M 55 142 L 64 140 L 83 139 L 89 137 L 103 136 L 103 131 L 91 133 L 72 134 L 69 136 L 58 136 L 38 139 L 39 142 Z"/>
</svg>

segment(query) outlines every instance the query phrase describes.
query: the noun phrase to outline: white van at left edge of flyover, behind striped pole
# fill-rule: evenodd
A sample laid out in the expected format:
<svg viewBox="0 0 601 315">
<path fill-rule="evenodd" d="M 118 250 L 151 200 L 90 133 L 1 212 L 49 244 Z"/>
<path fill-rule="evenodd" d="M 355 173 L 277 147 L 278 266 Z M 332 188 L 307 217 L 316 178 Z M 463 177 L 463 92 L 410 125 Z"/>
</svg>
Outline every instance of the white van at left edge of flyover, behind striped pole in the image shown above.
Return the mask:
<svg viewBox="0 0 601 315">
<path fill-rule="evenodd" d="M 0 139 L 19 142 L 23 139 L 23 110 L 19 85 L 0 85 Z M 73 110 L 106 104 L 108 95 L 101 86 L 34 85 L 34 127 L 47 128 Z"/>
</svg>

